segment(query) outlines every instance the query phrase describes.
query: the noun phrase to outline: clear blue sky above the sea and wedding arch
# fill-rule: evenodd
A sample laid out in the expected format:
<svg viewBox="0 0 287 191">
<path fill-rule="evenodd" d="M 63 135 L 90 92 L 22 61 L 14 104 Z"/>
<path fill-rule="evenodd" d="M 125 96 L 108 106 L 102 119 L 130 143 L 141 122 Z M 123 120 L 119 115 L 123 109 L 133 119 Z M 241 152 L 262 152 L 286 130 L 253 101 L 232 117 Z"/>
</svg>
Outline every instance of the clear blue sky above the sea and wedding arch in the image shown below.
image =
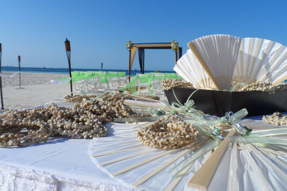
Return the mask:
<svg viewBox="0 0 287 191">
<path fill-rule="evenodd" d="M 187 43 L 211 34 L 287 45 L 287 1 L 0 1 L 2 66 L 127 69 L 125 43 Z M 145 70 L 172 70 L 172 50 L 146 50 Z M 138 55 L 133 68 L 139 69 Z"/>
</svg>

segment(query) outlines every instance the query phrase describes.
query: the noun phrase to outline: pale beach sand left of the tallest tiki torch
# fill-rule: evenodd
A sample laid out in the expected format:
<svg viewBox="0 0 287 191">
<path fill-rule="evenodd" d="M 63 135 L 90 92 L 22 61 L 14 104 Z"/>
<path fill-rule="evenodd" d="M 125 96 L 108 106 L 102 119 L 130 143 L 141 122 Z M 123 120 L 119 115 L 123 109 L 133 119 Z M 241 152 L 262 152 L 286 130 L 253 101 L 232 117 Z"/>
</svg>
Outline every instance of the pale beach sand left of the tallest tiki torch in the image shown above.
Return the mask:
<svg viewBox="0 0 287 191">
<path fill-rule="evenodd" d="M 3 73 L 1 76 L 4 102 L 2 112 L 41 105 L 70 92 L 69 84 L 48 84 L 51 79 L 68 77 L 67 74 L 21 73 L 21 89 L 19 74 L 13 78 L 11 74 Z"/>
</svg>

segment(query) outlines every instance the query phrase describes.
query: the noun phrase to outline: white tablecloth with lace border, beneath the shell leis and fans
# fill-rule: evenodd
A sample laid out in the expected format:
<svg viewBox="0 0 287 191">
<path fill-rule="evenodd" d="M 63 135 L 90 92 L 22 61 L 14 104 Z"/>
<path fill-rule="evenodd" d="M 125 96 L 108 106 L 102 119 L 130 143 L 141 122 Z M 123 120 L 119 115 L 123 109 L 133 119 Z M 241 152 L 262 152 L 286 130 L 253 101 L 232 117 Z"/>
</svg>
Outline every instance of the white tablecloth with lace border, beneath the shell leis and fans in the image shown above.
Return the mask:
<svg viewBox="0 0 287 191">
<path fill-rule="evenodd" d="M 94 163 L 91 141 L 55 137 L 29 147 L 0 148 L 0 190 L 137 190 Z"/>
</svg>

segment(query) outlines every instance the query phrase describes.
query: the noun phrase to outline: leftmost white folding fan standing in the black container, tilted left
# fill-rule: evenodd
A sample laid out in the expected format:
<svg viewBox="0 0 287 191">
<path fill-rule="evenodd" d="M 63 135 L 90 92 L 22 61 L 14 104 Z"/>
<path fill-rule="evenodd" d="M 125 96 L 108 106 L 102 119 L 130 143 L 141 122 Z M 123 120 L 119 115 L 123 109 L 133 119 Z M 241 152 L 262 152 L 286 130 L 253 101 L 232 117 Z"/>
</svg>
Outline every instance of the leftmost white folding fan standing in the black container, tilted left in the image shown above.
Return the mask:
<svg viewBox="0 0 287 191">
<path fill-rule="evenodd" d="M 191 50 L 187 50 L 173 68 L 181 77 L 189 81 L 196 88 L 216 88 L 204 68 Z"/>
</svg>

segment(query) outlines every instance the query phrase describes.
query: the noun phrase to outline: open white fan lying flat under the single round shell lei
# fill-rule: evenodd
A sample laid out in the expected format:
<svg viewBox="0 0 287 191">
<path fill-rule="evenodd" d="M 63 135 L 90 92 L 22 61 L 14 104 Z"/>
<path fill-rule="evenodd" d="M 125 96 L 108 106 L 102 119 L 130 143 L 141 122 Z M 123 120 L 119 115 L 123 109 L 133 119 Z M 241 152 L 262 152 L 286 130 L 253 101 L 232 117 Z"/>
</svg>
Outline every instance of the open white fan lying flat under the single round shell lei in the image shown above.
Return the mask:
<svg viewBox="0 0 287 191">
<path fill-rule="evenodd" d="M 116 179 L 141 190 L 184 190 L 187 181 L 204 163 L 208 152 L 219 145 L 218 141 L 199 134 L 197 141 L 178 149 L 163 150 L 144 145 L 137 137 L 136 124 L 106 124 L 115 136 L 94 138 L 90 153 L 96 164 Z M 212 143 L 212 144 L 210 144 Z M 190 156 L 194 160 L 177 178 L 167 174 L 175 163 Z"/>
</svg>

